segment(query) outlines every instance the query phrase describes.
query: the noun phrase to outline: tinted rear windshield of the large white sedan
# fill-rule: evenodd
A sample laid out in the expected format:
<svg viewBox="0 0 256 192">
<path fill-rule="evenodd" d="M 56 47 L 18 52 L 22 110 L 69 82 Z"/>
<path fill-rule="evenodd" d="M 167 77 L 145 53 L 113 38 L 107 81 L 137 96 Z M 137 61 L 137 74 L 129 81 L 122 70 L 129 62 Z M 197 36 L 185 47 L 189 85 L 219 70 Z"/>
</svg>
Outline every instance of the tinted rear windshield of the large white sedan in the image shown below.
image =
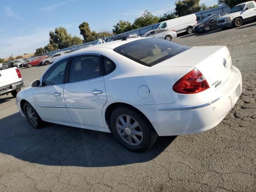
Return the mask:
<svg viewBox="0 0 256 192">
<path fill-rule="evenodd" d="M 153 66 L 189 48 L 163 39 L 144 38 L 118 46 L 114 51 L 140 64 Z"/>
</svg>

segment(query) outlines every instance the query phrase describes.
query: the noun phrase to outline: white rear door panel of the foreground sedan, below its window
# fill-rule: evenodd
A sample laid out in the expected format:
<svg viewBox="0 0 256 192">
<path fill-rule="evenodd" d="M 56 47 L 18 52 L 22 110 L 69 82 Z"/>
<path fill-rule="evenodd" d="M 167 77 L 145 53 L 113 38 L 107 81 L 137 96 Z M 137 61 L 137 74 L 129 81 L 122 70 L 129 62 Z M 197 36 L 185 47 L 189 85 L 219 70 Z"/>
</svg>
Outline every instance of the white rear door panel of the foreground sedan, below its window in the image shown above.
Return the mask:
<svg viewBox="0 0 256 192">
<path fill-rule="evenodd" d="M 92 94 L 95 90 L 102 93 Z M 65 84 L 64 100 L 74 123 L 105 128 L 102 108 L 107 96 L 103 77 Z"/>
</svg>

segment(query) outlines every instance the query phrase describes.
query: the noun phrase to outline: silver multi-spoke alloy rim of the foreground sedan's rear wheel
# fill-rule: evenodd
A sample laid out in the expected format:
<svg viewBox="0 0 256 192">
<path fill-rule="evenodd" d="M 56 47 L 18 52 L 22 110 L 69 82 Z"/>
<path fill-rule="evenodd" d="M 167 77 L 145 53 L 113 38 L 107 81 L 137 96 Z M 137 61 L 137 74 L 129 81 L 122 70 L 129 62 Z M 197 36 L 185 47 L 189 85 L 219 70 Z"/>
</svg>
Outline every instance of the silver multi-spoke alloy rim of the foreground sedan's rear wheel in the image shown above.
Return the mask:
<svg viewBox="0 0 256 192">
<path fill-rule="evenodd" d="M 138 146 L 143 139 L 142 129 L 138 122 L 128 115 L 120 115 L 116 120 L 116 130 L 124 142 Z"/>
</svg>

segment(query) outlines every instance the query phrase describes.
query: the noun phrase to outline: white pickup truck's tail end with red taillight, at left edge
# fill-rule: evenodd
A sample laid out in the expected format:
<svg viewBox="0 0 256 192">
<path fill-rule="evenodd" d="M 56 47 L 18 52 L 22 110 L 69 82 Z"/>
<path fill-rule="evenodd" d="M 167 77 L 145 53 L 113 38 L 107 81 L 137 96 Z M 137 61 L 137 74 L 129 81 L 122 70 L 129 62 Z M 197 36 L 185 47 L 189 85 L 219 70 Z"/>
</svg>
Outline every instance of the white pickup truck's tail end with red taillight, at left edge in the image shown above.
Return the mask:
<svg viewBox="0 0 256 192">
<path fill-rule="evenodd" d="M 16 97 L 22 87 L 21 74 L 16 67 L 0 70 L 0 96 L 11 93 Z"/>
</svg>

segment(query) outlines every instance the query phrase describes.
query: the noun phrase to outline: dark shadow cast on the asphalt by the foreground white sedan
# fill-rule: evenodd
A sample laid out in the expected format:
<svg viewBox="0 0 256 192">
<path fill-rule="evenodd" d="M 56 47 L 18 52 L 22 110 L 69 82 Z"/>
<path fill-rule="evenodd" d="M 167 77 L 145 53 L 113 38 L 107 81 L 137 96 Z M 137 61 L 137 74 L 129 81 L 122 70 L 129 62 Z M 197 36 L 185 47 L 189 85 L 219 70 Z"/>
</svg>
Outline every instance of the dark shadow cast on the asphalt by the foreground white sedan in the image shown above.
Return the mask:
<svg viewBox="0 0 256 192">
<path fill-rule="evenodd" d="M 50 123 L 42 129 L 34 129 L 20 113 L 1 119 L 0 125 L 2 154 L 56 166 L 104 167 L 147 162 L 161 154 L 176 138 L 160 137 L 148 151 L 135 153 L 126 150 L 109 133 Z"/>
</svg>

